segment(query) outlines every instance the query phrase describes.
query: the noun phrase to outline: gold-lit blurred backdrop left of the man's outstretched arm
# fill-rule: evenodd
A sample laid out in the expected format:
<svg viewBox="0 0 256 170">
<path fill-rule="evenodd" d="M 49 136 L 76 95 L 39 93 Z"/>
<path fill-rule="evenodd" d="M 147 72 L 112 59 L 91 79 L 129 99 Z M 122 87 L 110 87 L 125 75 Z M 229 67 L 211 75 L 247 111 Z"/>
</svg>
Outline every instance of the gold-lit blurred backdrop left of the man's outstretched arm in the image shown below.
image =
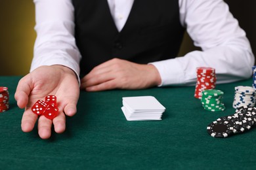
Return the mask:
<svg viewBox="0 0 256 170">
<path fill-rule="evenodd" d="M 26 75 L 36 36 L 33 1 L 1 0 L 0 24 L 0 75 Z"/>
</svg>

